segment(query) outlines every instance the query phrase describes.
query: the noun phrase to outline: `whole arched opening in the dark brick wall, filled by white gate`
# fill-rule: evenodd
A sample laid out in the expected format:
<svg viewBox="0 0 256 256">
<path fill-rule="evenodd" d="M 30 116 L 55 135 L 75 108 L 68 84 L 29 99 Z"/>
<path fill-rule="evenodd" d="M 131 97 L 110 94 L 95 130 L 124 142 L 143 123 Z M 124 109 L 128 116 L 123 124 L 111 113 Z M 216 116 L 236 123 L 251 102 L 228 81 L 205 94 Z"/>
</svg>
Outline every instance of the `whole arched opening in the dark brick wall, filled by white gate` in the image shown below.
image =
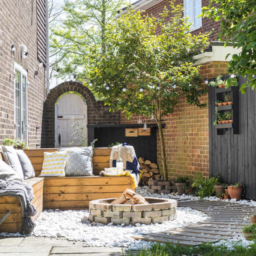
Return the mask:
<svg viewBox="0 0 256 256">
<path fill-rule="evenodd" d="M 55 147 L 87 145 L 87 106 L 78 92 L 65 92 L 55 104 Z"/>
</svg>

